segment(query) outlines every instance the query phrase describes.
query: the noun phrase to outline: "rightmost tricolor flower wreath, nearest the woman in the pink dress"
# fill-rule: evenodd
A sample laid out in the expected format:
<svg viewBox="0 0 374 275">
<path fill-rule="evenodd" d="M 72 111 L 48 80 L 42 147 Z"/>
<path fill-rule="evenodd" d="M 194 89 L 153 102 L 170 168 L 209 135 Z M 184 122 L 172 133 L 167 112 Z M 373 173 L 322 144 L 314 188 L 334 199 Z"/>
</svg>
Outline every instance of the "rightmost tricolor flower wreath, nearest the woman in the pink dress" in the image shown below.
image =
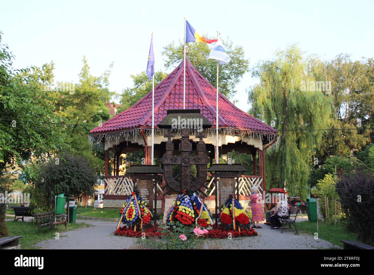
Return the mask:
<svg viewBox="0 0 374 275">
<path fill-rule="evenodd" d="M 249 228 L 251 226 L 248 214 L 233 195 L 221 208 L 219 221 L 227 226 L 232 226 L 233 230 L 240 230 L 240 227 Z"/>
</svg>

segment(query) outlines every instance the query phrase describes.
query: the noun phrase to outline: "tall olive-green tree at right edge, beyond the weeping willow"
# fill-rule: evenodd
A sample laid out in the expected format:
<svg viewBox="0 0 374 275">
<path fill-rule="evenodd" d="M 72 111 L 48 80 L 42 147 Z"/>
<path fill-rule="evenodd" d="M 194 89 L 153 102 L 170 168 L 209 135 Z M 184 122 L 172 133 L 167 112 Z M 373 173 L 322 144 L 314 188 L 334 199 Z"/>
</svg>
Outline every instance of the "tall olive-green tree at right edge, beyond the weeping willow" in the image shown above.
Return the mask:
<svg viewBox="0 0 374 275">
<path fill-rule="evenodd" d="M 352 61 L 340 54 L 325 62 L 333 97 L 330 131 L 323 135 L 317 152 L 320 163 L 329 156 L 352 156 L 368 142 L 373 125 L 373 60 Z M 348 129 L 348 130 L 345 130 Z"/>
</svg>

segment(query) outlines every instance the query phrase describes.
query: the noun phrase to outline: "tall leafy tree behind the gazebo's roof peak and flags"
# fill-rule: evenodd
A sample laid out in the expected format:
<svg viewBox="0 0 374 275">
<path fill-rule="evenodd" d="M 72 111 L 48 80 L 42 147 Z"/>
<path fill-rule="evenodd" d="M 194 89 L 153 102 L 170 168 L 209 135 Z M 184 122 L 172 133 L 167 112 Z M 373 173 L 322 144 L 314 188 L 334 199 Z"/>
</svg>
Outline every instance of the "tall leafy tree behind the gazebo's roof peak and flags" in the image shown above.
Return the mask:
<svg viewBox="0 0 374 275">
<path fill-rule="evenodd" d="M 242 46 L 234 46 L 228 38 L 222 42 L 231 61 L 220 65 L 219 91 L 227 98 L 232 98 L 236 93 L 236 84 L 249 71 L 249 59 L 244 57 Z M 217 86 L 217 60 L 207 59 L 209 46 L 206 43 L 187 43 L 187 45 L 188 60 L 214 87 Z M 166 56 L 165 68 L 174 68 L 183 60 L 183 46 L 183 42 L 179 41 L 177 45 L 172 42 L 163 48 L 162 54 Z"/>
</svg>

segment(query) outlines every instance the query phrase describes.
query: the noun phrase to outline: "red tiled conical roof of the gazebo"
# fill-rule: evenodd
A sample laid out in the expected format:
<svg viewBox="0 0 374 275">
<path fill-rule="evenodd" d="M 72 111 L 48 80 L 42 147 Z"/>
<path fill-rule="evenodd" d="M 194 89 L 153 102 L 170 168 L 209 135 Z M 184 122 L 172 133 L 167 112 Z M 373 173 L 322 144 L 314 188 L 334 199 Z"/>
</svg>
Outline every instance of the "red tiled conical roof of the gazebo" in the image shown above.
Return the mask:
<svg viewBox="0 0 374 275">
<path fill-rule="evenodd" d="M 219 127 L 230 127 L 255 132 L 277 133 L 277 130 L 237 108 L 224 95 L 218 97 Z M 159 85 L 154 88 L 154 125 L 157 125 L 170 109 L 183 109 L 183 61 Z M 186 58 L 186 109 L 200 109 L 215 128 L 216 89 Z M 92 129 L 91 134 L 121 132 L 133 128 L 152 126 L 152 91 L 134 106 L 112 117 L 102 127 Z M 156 127 L 156 126 L 155 126 Z"/>
</svg>

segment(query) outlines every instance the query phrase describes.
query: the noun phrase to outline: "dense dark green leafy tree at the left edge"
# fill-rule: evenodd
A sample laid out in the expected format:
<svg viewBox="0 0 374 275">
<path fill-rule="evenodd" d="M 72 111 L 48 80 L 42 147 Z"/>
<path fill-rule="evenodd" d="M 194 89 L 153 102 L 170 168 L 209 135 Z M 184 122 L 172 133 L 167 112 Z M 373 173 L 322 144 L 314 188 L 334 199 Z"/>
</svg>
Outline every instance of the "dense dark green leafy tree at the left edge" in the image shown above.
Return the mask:
<svg viewBox="0 0 374 275">
<path fill-rule="evenodd" d="M 54 124 L 61 118 L 40 92 L 37 81 L 28 77 L 34 68 L 13 70 L 13 59 L 8 46 L 1 44 L 0 33 L 1 174 L 6 165 L 21 165 L 21 158 L 42 158 L 66 146 L 64 129 Z"/>
</svg>

